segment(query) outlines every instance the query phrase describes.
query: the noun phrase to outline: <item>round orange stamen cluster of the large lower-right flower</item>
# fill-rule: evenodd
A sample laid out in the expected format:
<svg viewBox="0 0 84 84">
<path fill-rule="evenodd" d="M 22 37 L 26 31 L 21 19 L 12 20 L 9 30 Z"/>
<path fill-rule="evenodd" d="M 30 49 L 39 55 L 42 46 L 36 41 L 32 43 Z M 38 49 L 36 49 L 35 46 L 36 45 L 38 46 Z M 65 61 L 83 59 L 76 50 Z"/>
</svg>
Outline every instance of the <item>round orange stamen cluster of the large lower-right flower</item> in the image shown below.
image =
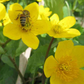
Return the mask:
<svg viewBox="0 0 84 84">
<path fill-rule="evenodd" d="M 59 59 L 56 69 L 57 76 L 66 82 L 70 82 L 79 75 L 79 67 L 76 60 L 72 60 L 70 56 Z"/>
</svg>

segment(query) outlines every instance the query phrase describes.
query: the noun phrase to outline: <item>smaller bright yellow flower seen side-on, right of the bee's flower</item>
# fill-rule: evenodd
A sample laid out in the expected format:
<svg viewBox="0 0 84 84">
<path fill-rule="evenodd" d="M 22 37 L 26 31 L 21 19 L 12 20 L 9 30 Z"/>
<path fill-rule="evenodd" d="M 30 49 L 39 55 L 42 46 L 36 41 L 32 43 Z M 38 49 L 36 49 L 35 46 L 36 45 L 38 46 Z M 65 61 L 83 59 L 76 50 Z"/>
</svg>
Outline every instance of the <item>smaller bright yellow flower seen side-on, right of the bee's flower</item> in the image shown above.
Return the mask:
<svg viewBox="0 0 84 84">
<path fill-rule="evenodd" d="M 50 17 L 52 24 L 51 30 L 48 31 L 48 34 L 54 38 L 73 38 L 80 35 L 80 32 L 77 29 L 70 28 L 75 23 L 76 20 L 72 16 L 65 17 L 59 21 L 57 14 L 53 14 Z M 70 29 L 69 29 L 70 28 Z"/>
</svg>

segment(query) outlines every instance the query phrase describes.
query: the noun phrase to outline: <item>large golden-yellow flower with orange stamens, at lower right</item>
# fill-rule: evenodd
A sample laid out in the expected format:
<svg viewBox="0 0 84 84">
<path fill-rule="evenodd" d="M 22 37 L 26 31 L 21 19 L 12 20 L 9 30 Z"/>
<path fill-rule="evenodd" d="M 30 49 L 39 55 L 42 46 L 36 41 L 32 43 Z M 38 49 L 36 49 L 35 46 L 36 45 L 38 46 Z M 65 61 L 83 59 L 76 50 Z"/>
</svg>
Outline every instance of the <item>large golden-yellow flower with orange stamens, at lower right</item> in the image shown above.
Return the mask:
<svg viewBox="0 0 84 84">
<path fill-rule="evenodd" d="M 50 84 L 84 84 L 84 46 L 74 46 L 71 40 L 59 42 L 55 58 L 49 56 L 44 73 Z"/>
</svg>

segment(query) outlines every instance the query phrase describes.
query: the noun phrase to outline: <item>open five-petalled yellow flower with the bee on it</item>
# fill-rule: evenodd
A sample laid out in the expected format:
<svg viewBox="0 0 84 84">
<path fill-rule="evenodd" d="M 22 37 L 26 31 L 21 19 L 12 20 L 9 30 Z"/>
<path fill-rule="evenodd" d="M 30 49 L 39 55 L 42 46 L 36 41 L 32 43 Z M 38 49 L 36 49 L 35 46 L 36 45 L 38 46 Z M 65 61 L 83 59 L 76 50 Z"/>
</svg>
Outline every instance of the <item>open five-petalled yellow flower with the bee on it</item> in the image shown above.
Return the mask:
<svg viewBox="0 0 84 84">
<path fill-rule="evenodd" d="M 49 21 L 37 20 L 39 6 L 31 3 L 24 9 L 18 3 L 12 4 L 8 11 L 12 23 L 7 24 L 3 29 L 3 34 L 10 39 L 22 41 L 33 49 L 39 45 L 36 35 L 46 33 L 50 29 Z"/>
</svg>

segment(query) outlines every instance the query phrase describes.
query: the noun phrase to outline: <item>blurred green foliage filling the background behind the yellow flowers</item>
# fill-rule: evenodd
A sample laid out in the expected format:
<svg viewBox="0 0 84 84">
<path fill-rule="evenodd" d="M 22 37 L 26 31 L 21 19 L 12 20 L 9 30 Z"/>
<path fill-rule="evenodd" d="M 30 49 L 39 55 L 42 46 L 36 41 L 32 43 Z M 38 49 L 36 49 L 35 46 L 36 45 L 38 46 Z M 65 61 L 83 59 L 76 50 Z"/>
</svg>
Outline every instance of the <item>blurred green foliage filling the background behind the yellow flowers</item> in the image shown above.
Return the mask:
<svg viewBox="0 0 84 84">
<path fill-rule="evenodd" d="M 25 8 L 27 4 L 35 2 L 36 0 L 10 0 L 5 2 L 3 4 L 6 6 L 7 12 L 9 6 L 13 3 L 17 3 L 17 1 Z M 57 13 L 60 19 L 70 15 L 78 18 L 76 24 L 72 28 L 78 29 L 81 35 L 73 39 L 71 38 L 70 40 L 74 42 L 74 45 L 84 45 L 84 26 L 82 25 L 84 24 L 84 0 L 44 0 L 44 6 L 49 7 L 52 14 Z M 0 84 L 15 84 L 18 73 L 8 56 L 11 56 L 17 66 L 19 66 L 19 56 L 21 53 L 25 52 L 28 47 L 21 39 L 10 40 L 5 37 L 3 35 L 3 27 L 4 26 L 0 26 Z M 38 36 L 38 39 L 40 40 L 39 47 L 36 50 L 32 50 L 24 76 L 27 81 L 31 77 L 33 81 L 32 84 L 37 84 L 34 83 L 35 80 L 41 81 L 41 77 L 37 79 L 34 78 L 37 77 L 38 72 L 41 74 L 43 72 L 45 55 L 52 37 L 47 34 L 42 34 Z M 54 39 L 48 56 L 54 55 L 58 42 L 63 40 L 67 39 Z M 81 69 L 84 70 L 84 67 Z M 29 81 L 28 84 L 31 84 L 31 81 Z M 39 84 L 42 84 L 42 82 Z M 47 79 L 46 84 L 49 84 L 49 79 Z"/>
</svg>

